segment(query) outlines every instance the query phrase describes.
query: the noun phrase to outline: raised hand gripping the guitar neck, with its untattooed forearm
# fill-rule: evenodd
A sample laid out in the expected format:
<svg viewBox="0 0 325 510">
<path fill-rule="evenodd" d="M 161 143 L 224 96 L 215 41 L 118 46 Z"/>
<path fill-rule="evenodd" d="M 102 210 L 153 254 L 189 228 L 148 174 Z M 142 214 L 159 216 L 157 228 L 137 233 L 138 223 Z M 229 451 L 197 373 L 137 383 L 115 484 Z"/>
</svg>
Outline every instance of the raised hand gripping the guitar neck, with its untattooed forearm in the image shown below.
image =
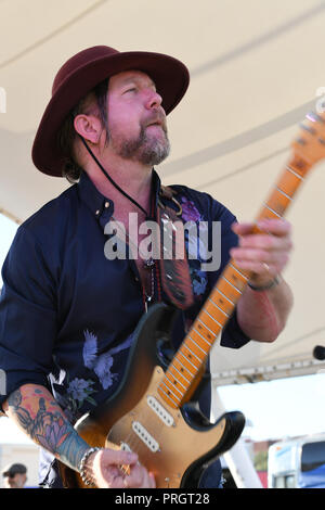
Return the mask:
<svg viewBox="0 0 325 510">
<path fill-rule="evenodd" d="M 258 233 L 256 232 L 258 227 Z M 231 256 L 238 269 L 250 272 L 249 282 L 237 304 L 242 330 L 259 342 L 273 342 L 283 331 L 294 303 L 290 288 L 274 279 L 286 267 L 292 248 L 291 227 L 283 219 L 264 219 L 258 224 L 235 224 L 239 237 Z M 260 291 L 256 292 L 259 288 Z"/>
</svg>

